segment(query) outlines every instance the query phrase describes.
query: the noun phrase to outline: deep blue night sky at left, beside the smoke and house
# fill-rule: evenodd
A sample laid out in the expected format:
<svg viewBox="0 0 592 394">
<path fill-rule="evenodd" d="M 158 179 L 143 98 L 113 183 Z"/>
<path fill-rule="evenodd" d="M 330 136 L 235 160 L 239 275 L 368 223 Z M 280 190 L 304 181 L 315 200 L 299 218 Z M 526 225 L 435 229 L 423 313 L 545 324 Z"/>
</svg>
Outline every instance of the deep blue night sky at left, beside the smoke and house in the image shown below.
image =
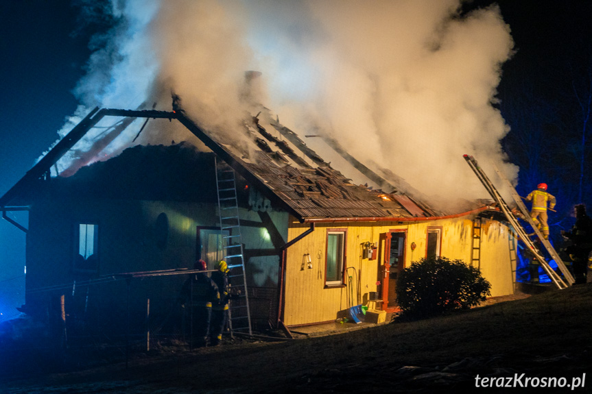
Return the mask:
<svg viewBox="0 0 592 394">
<path fill-rule="evenodd" d="M 69 1 L 0 1 L 0 194 L 58 138 L 90 51 Z M 26 225 L 26 216 L 9 216 Z M 0 221 L 0 321 L 24 301 L 25 235 Z M 17 292 L 9 308 L 9 293 Z"/>
</svg>

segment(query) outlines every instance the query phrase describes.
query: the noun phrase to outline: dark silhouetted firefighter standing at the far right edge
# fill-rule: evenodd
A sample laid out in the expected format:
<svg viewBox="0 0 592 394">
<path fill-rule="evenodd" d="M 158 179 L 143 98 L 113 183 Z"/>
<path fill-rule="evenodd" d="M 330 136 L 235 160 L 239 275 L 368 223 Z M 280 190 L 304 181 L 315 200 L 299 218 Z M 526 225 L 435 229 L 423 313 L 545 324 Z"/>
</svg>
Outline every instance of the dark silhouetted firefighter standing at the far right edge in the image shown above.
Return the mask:
<svg viewBox="0 0 592 394">
<path fill-rule="evenodd" d="M 592 219 L 586 214 L 586 206 L 578 204 L 574 207 L 576 224 L 569 232 L 562 231 L 561 235 L 571 241 L 566 248 L 571 259 L 573 279 L 576 284 L 587 282 L 588 258 L 592 251 Z"/>
</svg>

